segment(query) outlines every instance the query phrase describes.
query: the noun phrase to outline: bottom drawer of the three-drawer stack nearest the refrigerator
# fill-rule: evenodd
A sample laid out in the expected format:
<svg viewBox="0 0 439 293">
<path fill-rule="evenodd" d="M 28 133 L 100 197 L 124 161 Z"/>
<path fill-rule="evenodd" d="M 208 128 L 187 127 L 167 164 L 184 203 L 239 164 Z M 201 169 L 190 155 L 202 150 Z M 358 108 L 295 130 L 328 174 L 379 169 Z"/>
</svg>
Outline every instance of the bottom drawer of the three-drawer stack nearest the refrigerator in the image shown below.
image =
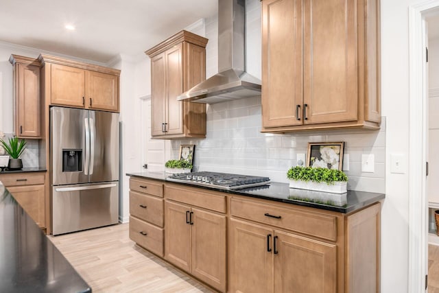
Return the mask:
<svg viewBox="0 0 439 293">
<path fill-rule="evenodd" d="M 163 229 L 130 217 L 130 239 L 163 257 Z"/>
</svg>

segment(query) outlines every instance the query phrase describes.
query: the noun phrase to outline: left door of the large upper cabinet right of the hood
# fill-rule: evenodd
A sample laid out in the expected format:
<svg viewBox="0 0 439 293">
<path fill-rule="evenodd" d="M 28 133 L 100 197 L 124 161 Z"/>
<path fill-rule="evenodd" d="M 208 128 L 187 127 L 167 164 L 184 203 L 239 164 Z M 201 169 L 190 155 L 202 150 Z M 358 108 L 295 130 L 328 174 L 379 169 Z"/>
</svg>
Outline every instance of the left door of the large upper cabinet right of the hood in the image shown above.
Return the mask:
<svg viewBox="0 0 439 293">
<path fill-rule="evenodd" d="M 264 127 L 302 124 L 302 1 L 262 2 Z"/>
</svg>

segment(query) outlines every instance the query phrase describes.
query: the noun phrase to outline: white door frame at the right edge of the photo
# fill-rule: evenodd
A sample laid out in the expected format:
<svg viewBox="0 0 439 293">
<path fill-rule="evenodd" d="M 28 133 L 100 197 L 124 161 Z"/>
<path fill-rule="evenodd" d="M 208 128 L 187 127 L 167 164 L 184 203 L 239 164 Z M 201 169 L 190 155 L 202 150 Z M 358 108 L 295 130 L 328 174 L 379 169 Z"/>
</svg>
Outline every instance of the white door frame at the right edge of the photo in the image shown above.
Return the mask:
<svg viewBox="0 0 439 293">
<path fill-rule="evenodd" d="M 409 266 L 408 292 L 425 292 L 428 253 L 427 80 L 425 13 L 439 8 L 439 0 L 409 6 Z M 421 130 L 421 131 L 419 131 Z M 419 163 L 421 162 L 421 163 Z"/>
</svg>

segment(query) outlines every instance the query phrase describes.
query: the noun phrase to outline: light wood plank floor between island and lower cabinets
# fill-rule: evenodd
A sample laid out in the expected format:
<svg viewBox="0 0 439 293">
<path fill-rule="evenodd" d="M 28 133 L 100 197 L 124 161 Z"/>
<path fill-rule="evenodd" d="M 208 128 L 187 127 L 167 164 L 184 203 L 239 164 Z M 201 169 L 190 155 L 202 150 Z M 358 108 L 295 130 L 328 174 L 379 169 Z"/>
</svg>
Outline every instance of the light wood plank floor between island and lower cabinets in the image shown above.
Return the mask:
<svg viewBox="0 0 439 293">
<path fill-rule="evenodd" d="M 48 236 L 93 292 L 213 292 L 128 237 L 128 224 Z"/>
</svg>

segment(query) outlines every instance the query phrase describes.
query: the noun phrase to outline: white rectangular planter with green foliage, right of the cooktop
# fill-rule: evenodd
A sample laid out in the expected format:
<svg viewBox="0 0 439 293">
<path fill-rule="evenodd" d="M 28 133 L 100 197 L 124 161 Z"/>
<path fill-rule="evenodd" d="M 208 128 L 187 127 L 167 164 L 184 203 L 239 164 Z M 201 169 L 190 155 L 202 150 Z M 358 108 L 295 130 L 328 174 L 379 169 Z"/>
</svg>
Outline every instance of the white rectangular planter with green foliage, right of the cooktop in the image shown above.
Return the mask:
<svg viewBox="0 0 439 293">
<path fill-rule="evenodd" d="M 327 168 L 292 167 L 287 172 L 289 187 L 344 194 L 348 177 L 343 171 Z"/>
</svg>

